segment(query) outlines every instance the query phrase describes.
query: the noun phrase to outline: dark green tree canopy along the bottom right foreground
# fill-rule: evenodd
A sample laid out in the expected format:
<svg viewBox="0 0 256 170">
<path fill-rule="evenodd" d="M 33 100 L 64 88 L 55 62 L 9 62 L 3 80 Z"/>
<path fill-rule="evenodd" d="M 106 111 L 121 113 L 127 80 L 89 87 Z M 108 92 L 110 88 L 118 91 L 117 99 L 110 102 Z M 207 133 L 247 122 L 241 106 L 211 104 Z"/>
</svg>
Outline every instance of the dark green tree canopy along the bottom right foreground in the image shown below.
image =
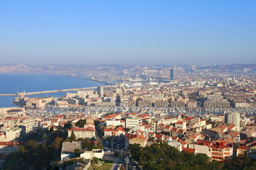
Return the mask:
<svg viewBox="0 0 256 170">
<path fill-rule="evenodd" d="M 256 161 L 249 157 L 217 162 L 202 153 L 179 152 L 167 143 L 154 143 L 142 148 L 139 144 L 129 145 L 132 158 L 143 169 L 256 169 Z"/>
</svg>

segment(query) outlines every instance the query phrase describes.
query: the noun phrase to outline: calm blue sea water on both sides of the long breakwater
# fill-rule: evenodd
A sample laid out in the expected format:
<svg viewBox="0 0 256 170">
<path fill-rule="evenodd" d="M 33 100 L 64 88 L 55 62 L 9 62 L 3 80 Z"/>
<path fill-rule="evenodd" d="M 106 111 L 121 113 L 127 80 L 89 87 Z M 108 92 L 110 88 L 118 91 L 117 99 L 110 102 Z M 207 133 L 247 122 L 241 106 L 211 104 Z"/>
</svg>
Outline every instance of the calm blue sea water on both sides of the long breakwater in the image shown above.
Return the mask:
<svg viewBox="0 0 256 170">
<path fill-rule="evenodd" d="M 16 94 L 18 92 L 40 92 L 44 90 L 76 89 L 97 87 L 106 84 L 84 80 L 73 76 L 49 74 L 0 74 L 0 94 Z M 61 97 L 67 92 L 35 94 L 28 97 Z M 0 108 L 15 107 L 15 96 L 0 96 Z"/>
</svg>

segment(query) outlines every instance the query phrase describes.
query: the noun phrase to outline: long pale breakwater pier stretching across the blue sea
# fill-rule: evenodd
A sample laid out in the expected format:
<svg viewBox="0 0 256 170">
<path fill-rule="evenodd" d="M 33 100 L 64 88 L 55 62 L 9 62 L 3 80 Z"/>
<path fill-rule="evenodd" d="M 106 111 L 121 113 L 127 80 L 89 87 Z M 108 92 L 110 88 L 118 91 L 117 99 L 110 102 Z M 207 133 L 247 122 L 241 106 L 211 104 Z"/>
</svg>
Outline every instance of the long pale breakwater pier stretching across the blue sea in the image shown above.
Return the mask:
<svg viewBox="0 0 256 170">
<path fill-rule="evenodd" d="M 109 86 L 103 86 L 103 87 L 112 87 Z M 83 87 L 83 88 L 77 88 L 77 89 L 61 89 L 61 90 L 47 90 L 42 92 L 28 92 L 26 93 L 26 96 L 33 95 L 33 94 L 47 94 L 47 93 L 57 93 L 57 92 L 69 92 L 69 91 L 77 91 L 77 90 L 90 90 L 90 89 L 97 89 L 97 87 Z M 17 94 L 0 94 L 0 96 L 20 96 L 22 93 Z"/>
</svg>

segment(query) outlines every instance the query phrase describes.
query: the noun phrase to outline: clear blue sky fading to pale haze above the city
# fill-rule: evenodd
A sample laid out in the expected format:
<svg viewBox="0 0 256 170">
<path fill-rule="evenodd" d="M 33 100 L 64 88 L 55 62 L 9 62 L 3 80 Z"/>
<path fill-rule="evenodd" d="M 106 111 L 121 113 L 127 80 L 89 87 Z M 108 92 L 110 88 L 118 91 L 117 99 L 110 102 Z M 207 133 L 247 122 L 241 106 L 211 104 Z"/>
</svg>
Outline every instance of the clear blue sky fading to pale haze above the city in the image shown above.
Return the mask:
<svg viewBox="0 0 256 170">
<path fill-rule="evenodd" d="M 3 0 L 0 63 L 256 63 L 255 9 L 255 0 Z"/>
</svg>

